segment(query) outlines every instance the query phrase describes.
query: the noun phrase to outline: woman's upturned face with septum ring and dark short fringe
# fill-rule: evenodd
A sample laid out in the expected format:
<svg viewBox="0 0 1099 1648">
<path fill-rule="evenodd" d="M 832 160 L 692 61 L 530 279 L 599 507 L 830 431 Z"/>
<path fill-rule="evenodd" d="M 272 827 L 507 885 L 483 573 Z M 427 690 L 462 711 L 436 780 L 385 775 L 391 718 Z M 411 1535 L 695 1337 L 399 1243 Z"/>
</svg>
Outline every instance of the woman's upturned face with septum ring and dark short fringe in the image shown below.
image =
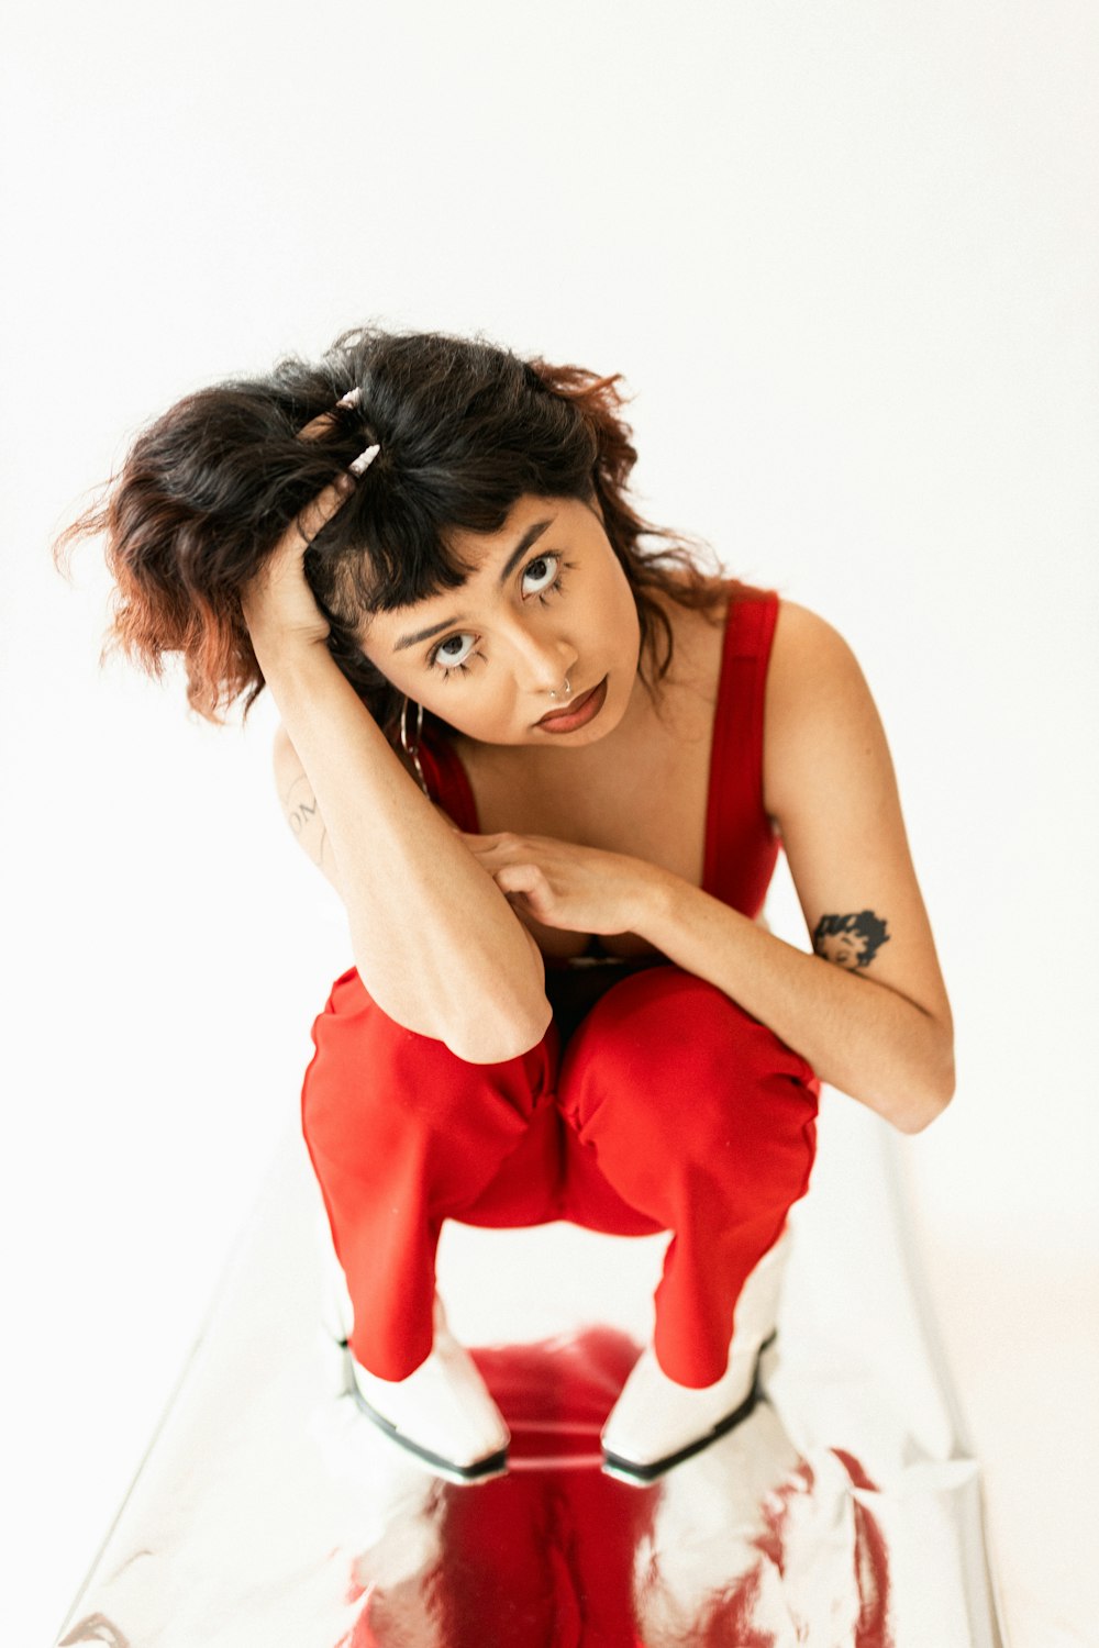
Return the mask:
<svg viewBox="0 0 1099 1648">
<path fill-rule="evenodd" d="M 453 544 L 475 569 L 466 582 L 371 613 L 358 636 L 369 661 L 483 743 L 580 748 L 606 737 L 634 691 L 641 626 L 598 504 L 524 496 L 499 532 Z M 542 722 L 585 694 L 596 714 L 583 725 Z"/>
</svg>

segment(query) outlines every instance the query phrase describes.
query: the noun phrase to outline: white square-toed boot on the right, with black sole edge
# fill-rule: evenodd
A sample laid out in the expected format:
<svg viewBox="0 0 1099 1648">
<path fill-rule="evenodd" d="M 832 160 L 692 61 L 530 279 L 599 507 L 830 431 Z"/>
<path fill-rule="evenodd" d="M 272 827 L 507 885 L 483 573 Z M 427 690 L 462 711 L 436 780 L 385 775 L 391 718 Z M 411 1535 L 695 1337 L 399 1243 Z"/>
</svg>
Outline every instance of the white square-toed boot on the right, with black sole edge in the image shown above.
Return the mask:
<svg viewBox="0 0 1099 1648">
<path fill-rule="evenodd" d="M 748 1416 L 756 1401 L 760 1351 L 774 1337 L 789 1231 L 748 1274 L 737 1300 L 728 1366 L 715 1384 L 690 1389 L 662 1371 L 649 1345 L 603 1426 L 603 1470 L 644 1486 L 702 1452 Z"/>
</svg>

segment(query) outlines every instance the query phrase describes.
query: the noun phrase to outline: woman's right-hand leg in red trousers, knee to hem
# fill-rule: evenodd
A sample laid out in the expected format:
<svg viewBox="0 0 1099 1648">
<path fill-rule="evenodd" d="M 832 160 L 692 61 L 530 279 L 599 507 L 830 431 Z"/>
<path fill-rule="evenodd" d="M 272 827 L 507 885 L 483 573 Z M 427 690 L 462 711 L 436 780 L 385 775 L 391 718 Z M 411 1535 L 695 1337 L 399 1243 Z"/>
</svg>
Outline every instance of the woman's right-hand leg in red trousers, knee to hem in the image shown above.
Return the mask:
<svg viewBox="0 0 1099 1648">
<path fill-rule="evenodd" d="M 580 1147 L 626 1203 L 672 1231 L 654 1351 L 680 1386 L 727 1371 L 745 1280 L 809 1187 L 817 1096 L 804 1058 L 671 966 L 616 984 L 565 1050 L 559 1104 Z"/>
</svg>

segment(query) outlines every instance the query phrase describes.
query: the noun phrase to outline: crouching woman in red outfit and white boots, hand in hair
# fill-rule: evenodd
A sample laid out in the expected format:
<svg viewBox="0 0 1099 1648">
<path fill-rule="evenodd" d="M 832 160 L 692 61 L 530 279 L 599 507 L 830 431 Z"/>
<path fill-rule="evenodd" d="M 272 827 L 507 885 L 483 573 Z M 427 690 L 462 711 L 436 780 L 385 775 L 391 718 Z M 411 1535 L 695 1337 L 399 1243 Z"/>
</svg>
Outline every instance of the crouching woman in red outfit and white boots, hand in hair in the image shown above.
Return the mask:
<svg viewBox="0 0 1099 1648">
<path fill-rule="evenodd" d="M 819 1083 L 903 1132 L 954 1089 L 858 664 L 638 517 L 616 381 L 346 333 L 175 405 L 66 534 L 105 532 L 115 636 L 181 651 L 193 707 L 275 697 L 354 956 L 303 1127 L 358 1396 L 455 1482 L 509 1437 L 435 1294 L 445 1218 L 672 1233 L 603 1430 L 651 1482 L 751 1406 Z M 756 920 L 779 840 L 812 954 Z"/>
</svg>

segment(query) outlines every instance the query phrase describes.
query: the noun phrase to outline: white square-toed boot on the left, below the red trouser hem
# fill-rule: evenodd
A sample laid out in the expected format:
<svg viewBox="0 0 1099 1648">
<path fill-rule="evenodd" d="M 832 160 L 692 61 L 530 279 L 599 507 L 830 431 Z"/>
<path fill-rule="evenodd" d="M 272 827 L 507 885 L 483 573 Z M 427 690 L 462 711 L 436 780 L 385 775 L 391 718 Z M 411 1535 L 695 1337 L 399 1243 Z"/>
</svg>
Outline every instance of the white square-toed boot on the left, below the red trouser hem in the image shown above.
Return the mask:
<svg viewBox="0 0 1099 1648">
<path fill-rule="evenodd" d="M 511 1432 L 476 1363 L 447 1327 L 435 1295 L 435 1341 L 405 1379 L 382 1379 L 351 1358 L 358 1406 L 386 1435 L 447 1482 L 507 1470 Z"/>
</svg>

